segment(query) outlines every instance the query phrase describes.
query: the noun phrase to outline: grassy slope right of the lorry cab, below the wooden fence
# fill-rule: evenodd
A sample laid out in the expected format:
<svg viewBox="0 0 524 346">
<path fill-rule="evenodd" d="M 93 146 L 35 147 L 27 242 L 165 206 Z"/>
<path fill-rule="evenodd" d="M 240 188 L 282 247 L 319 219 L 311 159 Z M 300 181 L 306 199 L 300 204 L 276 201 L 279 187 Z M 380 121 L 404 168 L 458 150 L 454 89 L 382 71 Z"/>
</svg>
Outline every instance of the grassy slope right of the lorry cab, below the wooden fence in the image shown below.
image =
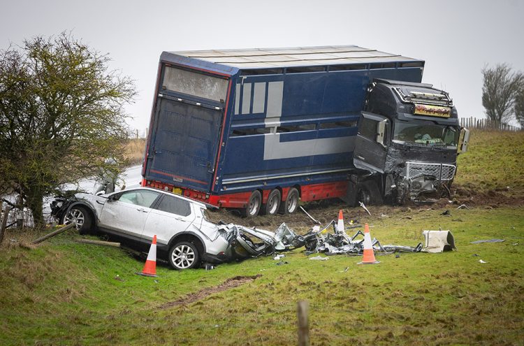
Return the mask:
<svg viewBox="0 0 524 346">
<path fill-rule="evenodd" d="M 455 182 L 486 192 L 524 193 L 524 131 L 472 131 L 470 147 L 458 157 Z"/>
</svg>

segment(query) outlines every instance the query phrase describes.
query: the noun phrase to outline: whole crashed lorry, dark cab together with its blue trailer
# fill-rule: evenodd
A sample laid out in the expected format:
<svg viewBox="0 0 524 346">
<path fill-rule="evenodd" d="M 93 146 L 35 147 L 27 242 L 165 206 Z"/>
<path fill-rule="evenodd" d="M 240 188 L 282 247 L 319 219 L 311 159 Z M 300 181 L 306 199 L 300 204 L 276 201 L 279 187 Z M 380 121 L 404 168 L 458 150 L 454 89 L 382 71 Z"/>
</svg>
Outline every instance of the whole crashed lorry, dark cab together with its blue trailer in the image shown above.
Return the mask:
<svg viewBox="0 0 524 346">
<path fill-rule="evenodd" d="M 356 45 L 162 52 L 142 185 L 247 217 L 434 201 L 469 131 L 424 64 Z"/>
</svg>

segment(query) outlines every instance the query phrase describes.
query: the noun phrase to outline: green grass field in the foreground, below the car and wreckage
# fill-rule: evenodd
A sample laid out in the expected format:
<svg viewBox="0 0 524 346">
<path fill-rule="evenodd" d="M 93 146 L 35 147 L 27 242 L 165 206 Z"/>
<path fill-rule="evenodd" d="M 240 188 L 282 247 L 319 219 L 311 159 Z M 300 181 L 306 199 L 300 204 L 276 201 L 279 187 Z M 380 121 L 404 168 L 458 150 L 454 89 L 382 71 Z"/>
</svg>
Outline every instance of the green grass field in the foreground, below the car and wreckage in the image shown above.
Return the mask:
<svg viewBox="0 0 524 346">
<path fill-rule="evenodd" d="M 271 257 L 213 271 L 159 265 L 155 282 L 135 275 L 143 261 L 75 243 L 72 234 L 36 250 L 4 247 L 0 344 L 292 345 L 296 303 L 305 299 L 312 345 L 522 345 L 524 210 L 451 210 L 450 217 L 402 210 L 362 221 L 384 245 L 414 246 L 423 229 L 451 229 L 458 251 L 380 256 L 381 264 L 358 266 L 358 257 L 310 261 L 295 250 L 283 266 Z M 506 241 L 470 244 L 490 238 Z M 258 274 L 240 287 L 161 308 L 228 278 Z"/>
</svg>

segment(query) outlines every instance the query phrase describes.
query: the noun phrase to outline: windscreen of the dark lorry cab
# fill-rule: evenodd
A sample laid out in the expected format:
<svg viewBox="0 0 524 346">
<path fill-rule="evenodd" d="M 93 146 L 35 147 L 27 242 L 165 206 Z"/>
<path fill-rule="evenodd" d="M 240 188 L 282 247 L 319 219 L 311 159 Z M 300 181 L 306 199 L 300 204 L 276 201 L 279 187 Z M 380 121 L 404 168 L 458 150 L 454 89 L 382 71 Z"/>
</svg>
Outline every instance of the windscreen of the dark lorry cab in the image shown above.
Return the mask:
<svg viewBox="0 0 524 346">
<path fill-rule="evenodd" d="M 442 145 L 456 148 L 458 143 L 457 127 L 432 124 L 431 122 L 395 122 L 393 143 L 414 145 Z"/>
</svg>

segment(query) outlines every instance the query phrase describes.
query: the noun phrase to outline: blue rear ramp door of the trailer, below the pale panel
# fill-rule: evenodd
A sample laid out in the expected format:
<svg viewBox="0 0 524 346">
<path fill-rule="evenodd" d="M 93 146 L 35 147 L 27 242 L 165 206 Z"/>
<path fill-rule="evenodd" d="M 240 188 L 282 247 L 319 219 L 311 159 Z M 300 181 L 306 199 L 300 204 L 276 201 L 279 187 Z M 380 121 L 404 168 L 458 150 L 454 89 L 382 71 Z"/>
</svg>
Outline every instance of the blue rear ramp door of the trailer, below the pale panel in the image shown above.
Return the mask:
<svg viewBox="0 0 524 346">
<path fill-rule="evenodd" d="M 156 113 L 147 179 L 210 191 L 224 111 L 162 96 Z"/>
</svg>

